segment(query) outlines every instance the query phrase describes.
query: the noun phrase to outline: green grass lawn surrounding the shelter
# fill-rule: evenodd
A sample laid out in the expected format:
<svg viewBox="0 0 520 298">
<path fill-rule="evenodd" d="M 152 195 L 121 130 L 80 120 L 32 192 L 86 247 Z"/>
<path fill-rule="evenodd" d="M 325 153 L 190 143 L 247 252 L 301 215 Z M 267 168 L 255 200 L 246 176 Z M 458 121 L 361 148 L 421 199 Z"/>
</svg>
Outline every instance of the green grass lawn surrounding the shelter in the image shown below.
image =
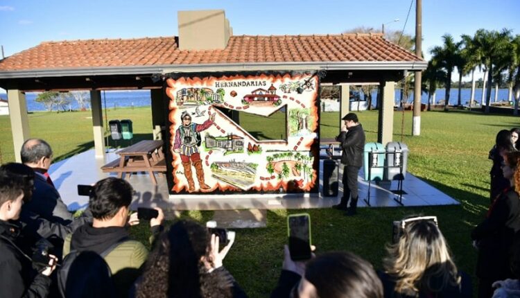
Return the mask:
<svg viewBox="0 0 520 298">
<path fill-rule="evenodd" d="M 108 119 L 132 119 L 136 139 L 150 139 L 149 107 L 116 109 L 107 112 Z M 31 137 L 48 140 L 56 159 L 63 159 L 93 147 L 92 119 L 89 112 L 34 113 L 29 115 Z M 359 112 L 367 141 L 376 141 L 377 112 Z M 482 220 L 489 204 L 489 168 L 487 152 L 496 132 L 520 126 L 513 116 L 483 115 L 470 112 L 424 112 L 421 136 L 411 137 L 412 114 L 404 114 L 401 136 L 401 112 L 395 113 L 394 140 L 410 149 L 408 171 L 437 189 L 460 201 L 460 206 L 363 208 L 358 216 L 347 218 L 329 209 L 311 209 L 313 244 L 320 252 L 349 250 L 381 268 L 385 243 L 390 240 L 392 220 L 413 213 L 435 215 L 446 236 L 456 263 L 474 278 L 476 251 L 471 247 L 471 229 Z M 338 132 L 338 113 L 322 114 L 320 136 L 334 137 Z M 261 119 L 241 118 L 248 130 L 265 127 Z M 262 133 L 279 136 L 279 128 L 264 128 Z M 275 138 L 273 137 L 273 138 Z M 8 116 L 0 116 L 0 150 L 2 162 L 13 161 L 13 148 Z M 406 182 L 405 182 L 406 183 Z M 237 231 L 236 242 L 225 259 L 225 266 L 250 297 L 266 297 L 275 287 L 281 268 L 282 247 L 286 243 L 286 216 L 299 210 L 268 211 L 264 229 Z M 187 211 L 184 218 L 205 222 L 211 211 Z M 132 234 L 146 243 L 146 227 L 132 227 Z"/>
</svg>

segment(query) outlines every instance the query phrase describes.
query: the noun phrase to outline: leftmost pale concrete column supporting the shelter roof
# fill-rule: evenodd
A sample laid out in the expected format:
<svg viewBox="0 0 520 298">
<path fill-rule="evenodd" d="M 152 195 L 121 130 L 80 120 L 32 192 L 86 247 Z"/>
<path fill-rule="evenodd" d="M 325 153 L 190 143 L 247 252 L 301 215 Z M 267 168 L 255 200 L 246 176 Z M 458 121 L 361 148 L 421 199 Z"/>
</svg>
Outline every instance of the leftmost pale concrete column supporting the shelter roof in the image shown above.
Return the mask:
<svg viewBox="0 0 520 298">
<path fill-rule="evenodd" d="M 21 162 L 20 150 L 29 138 L 29 121 L 25 94 L 17 89 L 7 91 L 9 118 L 11 120 L 12 144 L 15 146 L 15 160 Z"/>
</svg>

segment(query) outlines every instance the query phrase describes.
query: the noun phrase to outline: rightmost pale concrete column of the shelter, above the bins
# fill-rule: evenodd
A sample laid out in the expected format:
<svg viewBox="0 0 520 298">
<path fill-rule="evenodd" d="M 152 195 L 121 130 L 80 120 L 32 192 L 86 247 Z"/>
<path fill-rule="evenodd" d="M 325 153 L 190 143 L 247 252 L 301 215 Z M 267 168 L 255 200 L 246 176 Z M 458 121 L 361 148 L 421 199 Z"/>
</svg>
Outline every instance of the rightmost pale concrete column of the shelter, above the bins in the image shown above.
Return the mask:
<svg viewBox="0 0 520 298">
<path fill-rule="evenodd" d="M 381 109 L 379 109 L 379 121 L 377 123 L 377 141 L 386 146 L 392 141 L 394 133 L 394 104 L 395 104 L 395 82 L 381 82 L 379 94 L 381 94 Z"/>
</svg>

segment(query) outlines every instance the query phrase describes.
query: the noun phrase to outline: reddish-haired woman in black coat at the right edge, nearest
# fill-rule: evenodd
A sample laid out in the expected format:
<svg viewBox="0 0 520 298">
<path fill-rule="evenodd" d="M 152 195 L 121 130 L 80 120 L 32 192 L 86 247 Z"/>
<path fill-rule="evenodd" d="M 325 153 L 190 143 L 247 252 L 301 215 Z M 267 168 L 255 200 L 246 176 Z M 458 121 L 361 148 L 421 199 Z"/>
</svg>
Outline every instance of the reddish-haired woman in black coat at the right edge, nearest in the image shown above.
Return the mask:
<svg viewBox="0 0 520 298">
<path fill-rule="evenodd" d="M 483 222 L 471 232 L 478 247 L 478 297 L 491 297 L 492 283 L 512 277 L 510 249 L 520 231 L 520 151 L 509 152 L 501 168 L 509 185 L 496 197 Z"/>
</svg>

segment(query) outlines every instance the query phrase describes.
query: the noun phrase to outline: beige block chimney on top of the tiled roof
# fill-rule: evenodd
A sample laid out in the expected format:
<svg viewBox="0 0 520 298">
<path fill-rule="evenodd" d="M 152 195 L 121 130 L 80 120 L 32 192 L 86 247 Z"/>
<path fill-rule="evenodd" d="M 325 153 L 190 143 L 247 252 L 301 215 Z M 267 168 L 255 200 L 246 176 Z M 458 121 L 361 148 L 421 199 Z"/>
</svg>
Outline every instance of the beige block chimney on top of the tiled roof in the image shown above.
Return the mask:
<svg viewBox="0 0 520 298">
<path fill-rule="evenodd" d="M 224 10 L 193 10 L 177 12 L 179 49 L 225 49 L 233 34 Z"/>
</svg>

